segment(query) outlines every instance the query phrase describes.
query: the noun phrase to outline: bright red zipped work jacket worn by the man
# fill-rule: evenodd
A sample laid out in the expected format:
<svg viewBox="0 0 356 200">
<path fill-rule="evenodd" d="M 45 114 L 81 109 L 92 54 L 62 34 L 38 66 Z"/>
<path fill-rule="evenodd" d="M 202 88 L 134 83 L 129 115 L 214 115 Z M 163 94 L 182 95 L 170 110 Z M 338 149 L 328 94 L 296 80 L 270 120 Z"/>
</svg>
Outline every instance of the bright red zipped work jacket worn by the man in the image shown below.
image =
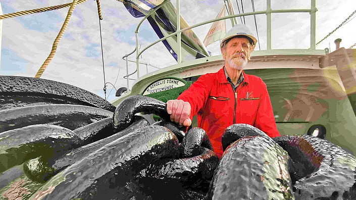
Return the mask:
<svg viewBox="0 0 356 200">
<path fill-rule="evenodd" d="M 270 137 L 279 136 L 265 82 L 242 73 L 244 81 L 236 92 L 222 68 L 217 73 L 200 76 L 177 98 L 189 102 L 190 119 L 197 115 L 198 126 L 207 132 L 219 158 L 223 154 L 221 136 L 232 124 L 249 124 Z M 250 95 L 246 99 L 247 92 Z"/>
</svg>

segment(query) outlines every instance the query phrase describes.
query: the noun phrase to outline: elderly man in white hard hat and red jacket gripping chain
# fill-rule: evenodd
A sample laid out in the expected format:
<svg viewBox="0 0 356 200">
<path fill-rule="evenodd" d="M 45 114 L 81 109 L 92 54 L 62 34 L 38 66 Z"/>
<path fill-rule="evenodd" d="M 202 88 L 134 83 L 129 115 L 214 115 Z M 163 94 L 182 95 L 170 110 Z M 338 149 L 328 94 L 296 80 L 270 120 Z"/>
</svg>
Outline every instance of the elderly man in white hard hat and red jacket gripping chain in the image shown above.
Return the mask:
<svg viewBox="0 0 356 200">
<path fill-rule="evenodd" d="M 225 66 L 200 76 L 177 99 L 167 102 L 171 120 L 180 125 L 190 126 L 197 115 L 198 126 L 207 132 L 219 158 L 221 136 L 232 124 L 249 124 L 270 137 L 279 136 L 266 84 L 243 71 L 256 42 L 247 26 L 235 25 L 221 41 Z"/>
</svg>

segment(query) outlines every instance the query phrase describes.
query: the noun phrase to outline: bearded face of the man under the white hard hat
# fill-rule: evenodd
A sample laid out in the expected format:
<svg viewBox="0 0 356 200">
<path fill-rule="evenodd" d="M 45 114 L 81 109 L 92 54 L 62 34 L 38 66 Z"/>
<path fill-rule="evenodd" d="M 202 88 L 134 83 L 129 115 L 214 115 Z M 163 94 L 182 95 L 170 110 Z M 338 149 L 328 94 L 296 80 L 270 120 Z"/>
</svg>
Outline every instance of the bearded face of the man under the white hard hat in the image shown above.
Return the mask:
<svg viewBox="0 0 356 200">
<path fill-rule="evenodd" d="M 232 38 L 223 52 L 225 63 L 231 68 L 242 70 L 250 60 L 250 43 L 246 38 Z"/>
</svg>

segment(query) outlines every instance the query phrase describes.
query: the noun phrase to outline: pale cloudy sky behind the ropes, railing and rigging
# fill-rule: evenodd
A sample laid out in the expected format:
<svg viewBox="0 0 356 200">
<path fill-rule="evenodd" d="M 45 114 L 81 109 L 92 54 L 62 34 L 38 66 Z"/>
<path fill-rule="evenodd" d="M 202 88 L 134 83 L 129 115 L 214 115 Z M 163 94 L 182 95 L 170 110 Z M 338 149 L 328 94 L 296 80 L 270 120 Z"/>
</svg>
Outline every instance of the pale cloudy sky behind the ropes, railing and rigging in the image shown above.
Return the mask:
<svg viewBox="0 0 356 200">
<path fill-rule="evenodd" d="M 2 0 L 1 6 L 3 13 L 8 14 L 70 2 L 72 1 Z M 241 0 L 237 2 L 240 12 L 242 12 Z M 288 0 L 288 2 L 290 3 L 285 3 L 285 0 L 272 0 L 272 9 L 310 8 L 310 0 Z M 172 0 L 172 3 L 176 5 L 175 0 Z M 204 22 L 214 19 L 218 15 L 223 3 L 223 0 L 181 1 L 181 15 L 189 25 Z M 238 13 L 236 1 L 232 1 L 232 3 L 235 13 Z M 244 12 L 252 12 L 251 1 L 242 0 L 242 3 Z M 266 9 L 266 0 L 255 0 L 254 4 L 256 11 Z M 126 75 L 126 62 L 122 60 L 122 57 L 135 48 L 134 30 L 141 18 L 132 17 L 124 5 L 115 0 L 102 0 L 100 5 L 104 18 L 101 20 L 101 30 L 106 82 L 114 84 L 116 88 L 125 87 L 126 80 L 123 76 Z M 34 77 L 50 53 L 68 9 L 69 7 L 3 20 L 0 75 Z M 356 10 L 356 2 L 354 0 L 319 0 L 317 9 L 316 40 L 318 42 Z M 353 20 L 355 16 L 356 14 L 317 45 L 317 49 L 330 46 L 331 51 L 335 51 L 334 40 L 336 38 L 342 39 L 341 47 L 349 48 L 356 43 L 354 37 L 356 20 Z M 257 15 L 256 18 L 261 50 L 264 50 L 267 48 L 266 15 Z M 238 22 L 241 23 L 241 19 L 238 19 Z M 253 16 L 245 17 L 245 23 L 256 31 Z M 229 30 L 231 22 L 227 20 L 226 24 L 227 30 Z M 211 24 L 207 24 L 193 29 L 201 41 L 204 40 L 210 26 Z M 149 23 L 145 21 L 139 29 L 139 41 L 142 44 L 142 49 L 158 39 L 159 37 Z M 308 13 L 272 14 L 272 48 L 309 47 L 310 15 Z M 213 55 L 220 54 L 218 42 L 209 45 L 207 49 Z M 259 50 L 259 46 L 255 48 L 256 50 Z M 134 60 L 134 56 L 129 59 Z M 156 67 L 148 66 L 148 72 L 176 64 L 162 42 L 144 52 L 140 61 Z M 75 7 L 66 32 L 57 48 L 57 53 L 41 78 L 75 85 L 104 98 L 102 62 L 96 2 L 89 0 Z M 133 72 L 135 68 L 135 63 L 129 63 L 129 73 Z M 141 76 L 146 73 L 145 68 L 144 65 L 141 66 Z M 130 81 L 130 86 L 132 83 L 133 81 Z M 112 88 L 113 86 L 108 84 L 108 101 L 113 101 L 116 98 L 115 89 L 112 90 Z"/>
</svg>

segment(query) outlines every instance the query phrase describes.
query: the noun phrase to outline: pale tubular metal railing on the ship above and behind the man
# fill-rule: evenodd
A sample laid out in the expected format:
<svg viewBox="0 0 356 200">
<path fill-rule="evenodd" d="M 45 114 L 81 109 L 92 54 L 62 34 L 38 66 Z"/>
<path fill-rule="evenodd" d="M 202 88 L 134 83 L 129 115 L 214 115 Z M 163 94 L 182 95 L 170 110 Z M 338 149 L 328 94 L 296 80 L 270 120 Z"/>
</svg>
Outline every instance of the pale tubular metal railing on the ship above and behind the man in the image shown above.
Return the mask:
<svg viewBox="0 0 356 200">
<path fill-rule="evenodd" d="M 140 25 L 142 24 L 142 22 L 148 17 L 150 16 L 152 13 L 156 12 L 159 8 L 161 8 L 163 5 L 165 5 L 166 3 L 170 2 L 171 0 L 166 0 L 164 1 L 161 5 L 157 6 L 154 10 L 151 10 L 141 21 L 140 23 L 138 23 L 137 28 L 135 30 L 135 35 L 136 35 L 136 49 L 138 49 L 138 29 L 140 27 Z M 220 20 L 225 20 L 225 19 L 230 19 L 230 18 L 234 18 L 234 17 L 241 17 L 241 16 L 249 16 L 249 15 L 260 15 L 260 14 L 266 14 L 267 15 L 267 49 L 272 49 L 272 21 L 271 21 L 271 14 L 272 13 L 310 13 L 311 16 L 311 26 L 310 26 L 310 48 L 311 50 L 315 50 L 316 49 L 316 45 L 315 45 L 315 35 L 316 35 L 316 12 L 318 11 L 316 8 L 316 0 L 311 0 L 311 8 L 310 9 L 285 9 L 285 10 L 272 10 L 271 9 L 271 0 L 267 0 L 267 9 L 265 11 L 257 11 L 257 12 L 250 12 L 250 13 L 242 13 L 242 14 L 236 14 L 236 15 L 230 15 L 230 16 L 226 16 L 226 17 L 222 17 L 219 19 L 213 19 L 213 20 L 209 20 L 206 22 L 202 22 L 202 23 L 198 23 L 195 24 L 193 26 L 189 26 L 187 28 L 184 28 L 182 30 L 180 30 L 180 10 L 179 10 L 179 0 L 177 0 L 177 31 L 175 33 L 172 33 L 170 35 L 167 35 L 166 37 L 163 37 L 151 44 L 149 44 L 148 46 L 146 46 L 145 48 L 142 49 L 142 51 L 137 51 L 136 52 L 136 68 L 137 68 L 137 78 L 139 78 L 139 56 L 146 51 L 147 48 L 157 44 L 160 41 L 163 41 L 169 37 L 172 37 L 174 35 L 177 35 L 177 43 L 178 43 L 178 52 L 177 52 L 177 61 L 178 64 L 181 63 L 181 33 L 183 31 L 201 26 L 201 25 L 205 25 L 205 24 L 209 24 L 209 23 L 213 23 L 216 21 L 220 21 Z"/>
</svg>

